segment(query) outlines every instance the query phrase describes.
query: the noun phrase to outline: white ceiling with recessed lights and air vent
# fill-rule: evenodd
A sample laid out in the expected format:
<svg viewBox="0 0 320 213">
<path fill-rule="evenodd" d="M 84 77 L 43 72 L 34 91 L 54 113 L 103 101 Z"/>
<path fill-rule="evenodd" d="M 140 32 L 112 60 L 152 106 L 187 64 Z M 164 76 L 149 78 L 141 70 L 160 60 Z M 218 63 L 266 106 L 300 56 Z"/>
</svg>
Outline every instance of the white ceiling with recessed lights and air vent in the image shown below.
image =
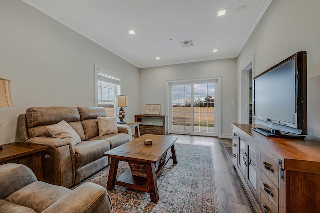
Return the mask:
<svg viewBox="0 0 320 213">
<path fill-rule="evenodd" d="M 237 57 L 272 0 L 22 0 L 138 68 Z M 239 7 L 246 9 L 237 12 Z M 227 8 L 225 16 L 217 11 Z M 136 34 L 130 35 L 129 30 Z M 172 39 L 172 41 L 169 41 Z M 180 41 L 192 40 L 182 47 Z M 213 52 L 218 49 L 218 52 Z M 155 58 L 159 57 L 160 60 Z"/>
</svg>

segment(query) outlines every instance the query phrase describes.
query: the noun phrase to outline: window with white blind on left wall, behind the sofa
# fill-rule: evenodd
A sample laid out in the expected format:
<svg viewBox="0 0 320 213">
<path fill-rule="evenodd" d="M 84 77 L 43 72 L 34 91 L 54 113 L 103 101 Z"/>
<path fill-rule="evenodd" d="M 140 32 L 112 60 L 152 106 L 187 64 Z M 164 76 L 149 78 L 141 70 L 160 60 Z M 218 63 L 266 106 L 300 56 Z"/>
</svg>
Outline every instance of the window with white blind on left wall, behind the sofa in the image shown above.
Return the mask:
<svg viewBox="0 0 320 213">
<path fill-rule="evenodd" d="M 120 95 L 121 74 L 99 65 L 96 71 L 96 106 L 104 107 L 108 117 L 113 117 L 115 95 Z"/>
</svg>

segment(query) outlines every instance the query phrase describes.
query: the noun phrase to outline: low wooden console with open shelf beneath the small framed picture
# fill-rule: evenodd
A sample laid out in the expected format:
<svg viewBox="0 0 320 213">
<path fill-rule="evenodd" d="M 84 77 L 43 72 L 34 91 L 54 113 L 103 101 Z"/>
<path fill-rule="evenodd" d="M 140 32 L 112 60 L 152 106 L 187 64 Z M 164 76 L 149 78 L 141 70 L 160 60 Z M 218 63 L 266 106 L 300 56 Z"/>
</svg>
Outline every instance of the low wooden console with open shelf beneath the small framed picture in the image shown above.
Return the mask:
<svg viewBox="0 0 320 213">
<path fill-rule="evenodd" d="M 135 122 L 141 122 L 140 134 L 167 135 L 168 115 L 135 115 Z"/>
</svg>

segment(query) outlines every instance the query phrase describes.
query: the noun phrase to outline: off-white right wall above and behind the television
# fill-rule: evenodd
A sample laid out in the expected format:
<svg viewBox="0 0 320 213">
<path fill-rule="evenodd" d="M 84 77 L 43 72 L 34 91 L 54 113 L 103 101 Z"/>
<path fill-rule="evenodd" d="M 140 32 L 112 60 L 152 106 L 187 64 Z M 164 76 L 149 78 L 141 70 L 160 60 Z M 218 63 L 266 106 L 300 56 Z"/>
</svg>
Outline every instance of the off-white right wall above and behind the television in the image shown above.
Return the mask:
<svg viewBox="0 0 320 213">
<path fill-rule="evenodd" d="M 307 138 L 315 140 L 320 140 L 319 8 L 318 0 L 273 0 L 237 58 L 239 89 L 240 69 L 252 55 L 255 55 L 255 75 L 258 75 L 295 52 L 307 51 Z M 238 100 L 240 105 L 241 99 Z"/>
</svg>

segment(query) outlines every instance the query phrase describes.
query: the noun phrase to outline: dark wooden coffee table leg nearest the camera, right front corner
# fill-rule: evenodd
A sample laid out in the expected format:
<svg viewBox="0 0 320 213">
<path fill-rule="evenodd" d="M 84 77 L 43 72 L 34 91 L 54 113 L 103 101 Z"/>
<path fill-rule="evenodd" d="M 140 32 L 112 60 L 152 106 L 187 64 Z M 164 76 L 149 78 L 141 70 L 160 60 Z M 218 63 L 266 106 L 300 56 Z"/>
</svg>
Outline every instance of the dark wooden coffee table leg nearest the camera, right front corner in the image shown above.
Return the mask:
<svg viewBox="0 0 320 213">
<path fill-rule="evenodd" d="M 146 173 L 148 177 L 149 194 L 151 201 L 157 203 L 159 200 L 159 190 L 156 183 L 155 164 L 146 163 Z"/>
</svg>

